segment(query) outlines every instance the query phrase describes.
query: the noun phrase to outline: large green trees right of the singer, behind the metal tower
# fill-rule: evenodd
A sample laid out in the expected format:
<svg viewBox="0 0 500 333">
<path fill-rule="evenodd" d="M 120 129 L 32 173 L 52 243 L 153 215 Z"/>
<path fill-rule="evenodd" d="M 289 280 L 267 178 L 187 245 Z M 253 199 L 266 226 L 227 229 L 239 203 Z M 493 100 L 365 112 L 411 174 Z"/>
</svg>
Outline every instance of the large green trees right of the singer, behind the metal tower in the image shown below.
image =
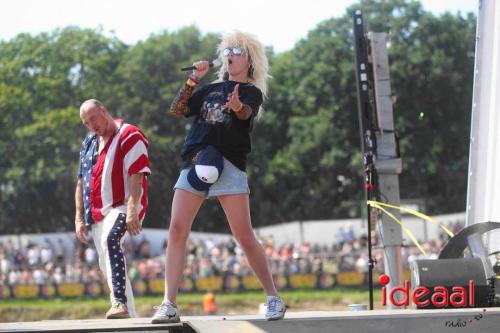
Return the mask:
<svg viewBox="0 0 500 333">
<path fill-rule="evenodd" d="M 430 213 L 464 208 L 474 16 L 436 17 L 418 2 L 361 1 L 273 59 L 268 120 L 255 135 L 260 162 L 252 169 L 259 220 L 359 215 L 362 160 L 351 32 L 357 9 L 368 30 L 391 36 L 403 198 L 429 199 Z M 428 115 L 424 121 L 418 120 L 421 112 Z"/>
</svg>

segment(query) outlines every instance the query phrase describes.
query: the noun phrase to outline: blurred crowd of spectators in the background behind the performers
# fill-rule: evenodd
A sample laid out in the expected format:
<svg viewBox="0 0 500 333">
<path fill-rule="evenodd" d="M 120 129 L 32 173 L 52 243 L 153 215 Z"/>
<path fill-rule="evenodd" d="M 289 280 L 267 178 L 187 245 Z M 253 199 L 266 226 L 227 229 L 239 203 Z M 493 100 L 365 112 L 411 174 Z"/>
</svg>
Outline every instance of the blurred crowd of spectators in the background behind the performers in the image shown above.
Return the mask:
<svg viewBox="0 0 500 333">
<path fill-rule="evenodd" d="M 452 227 L 457 229 L 457 226 Z M 427 258 L 437 257 L 445 238 L 422 243 Z M 341 229 L 329 246 L 309 242 L 276 244 L 273 238 L 264 238 L 261 242 L 275 275 L 366 272 L 368 269 L 367 237 L 355 237 L 349 228 Z M 161 253 L 164 253 L 166 245 L 165 241 Z M 376 235 L 372 237 L 372 245 L 374 269 L 382 273 L 384 254 Z M 75 240 L 72 246 L 68 249 L 62 239 L 54 243 L 45 239 L 40 244 L 29 243 L 23 248 L 15 246 L 10 239 L 0 243 L 0 285 L 103 281 L 92 242 L 86 245 Z M 145 236 L 128 237 L 124 242 L 124 251 L 132 281 L 163 279 L 165 255 L 153 256 L 151 244 Z M 413 245 L 402 248 L 405 267 L 423 257 Z M 188 241 L 184 274 L 196 279 L 226 274 L 245 276 L 252 272 L 235 241 L 214 242 L 207 238 Z"/>
</svg>

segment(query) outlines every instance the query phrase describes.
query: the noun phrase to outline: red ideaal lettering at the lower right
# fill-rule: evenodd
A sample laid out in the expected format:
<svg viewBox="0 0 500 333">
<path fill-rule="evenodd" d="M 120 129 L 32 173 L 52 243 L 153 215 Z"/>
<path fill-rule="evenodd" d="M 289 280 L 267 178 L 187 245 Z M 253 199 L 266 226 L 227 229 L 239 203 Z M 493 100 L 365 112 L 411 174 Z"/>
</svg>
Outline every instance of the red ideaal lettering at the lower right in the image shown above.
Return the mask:
<svg viewBox="0 0 500 333">
<path fill-rule="evenodd" d="M 387 305 L 387 299 L 395 306 L 410 305 L 410 283 L 404 281 L 404 287 L 395 287 L 389 291 L 385 287 L 391 279 L 388 275 L 382 274 L 379 277 L 379 282 L 382 287 L 382 305 Z M 468 291 L 465 287 L 455 286 L 451 288 L 451 293 L 448 295 L 448 289 L 444 286 L 436 286 L 431 291 L 427 287 L 417 286 L 411 291 L 411 300 L 418 307 L 427 307 L 432 304 L 436 308 L 444 308 L 451 305 L 455 308 L 474 307 L 474 281 L 469 280 Z M 396 299 L 395 294 L 401 292 L 403 297 L 401 300 Z"/>
</svg>

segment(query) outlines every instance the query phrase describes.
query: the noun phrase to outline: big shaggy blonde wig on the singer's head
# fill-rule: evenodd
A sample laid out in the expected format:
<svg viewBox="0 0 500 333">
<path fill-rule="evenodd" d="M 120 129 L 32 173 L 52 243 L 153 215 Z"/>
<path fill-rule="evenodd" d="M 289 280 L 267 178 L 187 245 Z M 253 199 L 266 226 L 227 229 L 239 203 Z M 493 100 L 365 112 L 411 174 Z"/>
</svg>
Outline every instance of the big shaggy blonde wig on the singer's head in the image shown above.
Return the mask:
<svg viewBox="0 0 500 333">
<path fill-rule="evenodd" d="M 222 61 L 222 66 L 218 71 L 218 81 L 226 79 L 229 75 L 227 57 L 223 55 L 224 49 L 228 47 L 241 47 L 245 50 L 245 55 L 250 62 L 248 82 L 259 88 L 265 99 L 267 96 L 267 79 L 270 76 L 268 74 L 269 63 L 264 45 L 254 35 L 246 32 L 234 31 L 222 36 L 221 42 L 217 47 L 219 59 Z M 259 113 L 261 112 L 262 109 Z"/>
</svg>

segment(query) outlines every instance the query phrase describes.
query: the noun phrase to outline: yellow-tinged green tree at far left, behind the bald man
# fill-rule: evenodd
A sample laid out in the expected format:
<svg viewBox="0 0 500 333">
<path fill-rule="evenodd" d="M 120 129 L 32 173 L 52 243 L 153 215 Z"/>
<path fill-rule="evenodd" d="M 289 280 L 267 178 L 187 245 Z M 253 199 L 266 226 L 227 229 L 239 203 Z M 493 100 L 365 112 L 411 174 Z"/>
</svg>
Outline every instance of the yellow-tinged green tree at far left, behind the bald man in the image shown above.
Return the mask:
<svg viewBox="0 0 500 333">
<path fill-rule="evenodd" d="M 104 96 L 126 46 L 92 30 L 68 27 L 0 44 L 0 165 L 6 230 L 72 228 L 79 142 L 78 106 Z"/>
</svg>

